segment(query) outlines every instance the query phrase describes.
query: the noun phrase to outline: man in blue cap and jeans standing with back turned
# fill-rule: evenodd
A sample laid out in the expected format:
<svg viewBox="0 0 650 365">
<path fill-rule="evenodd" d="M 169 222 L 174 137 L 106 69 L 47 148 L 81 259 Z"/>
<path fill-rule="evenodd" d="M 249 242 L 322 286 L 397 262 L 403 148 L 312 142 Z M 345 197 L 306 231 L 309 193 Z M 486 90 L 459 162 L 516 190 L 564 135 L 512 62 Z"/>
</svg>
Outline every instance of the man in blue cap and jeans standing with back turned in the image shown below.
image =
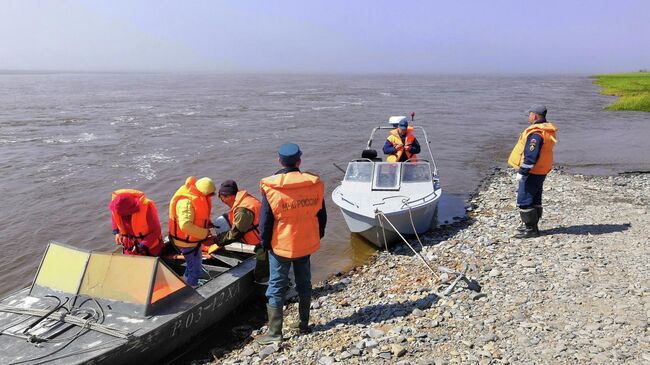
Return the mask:
<svg viewBox="0 0 650 365">
<path fill-rule="evenodd" d="M 283 169 L 260 181 L 260 235 L 263 247 L 269 251 L 270 263 L 269 287 L 266 290 L 269 331 L 257 339 L 260 344 L 282 341 L 282 307 L 292 265 L 300 298 L 299 321 L 294 327 L 301 333 L 309 332 L 309 258 L 320 248 L 320 239 L 325 234 L 327 223 L 323 182 L 316 175 L 300 171 L 302 152 L 298 145 L 283 144 L 278 155 Z"/>
</svg>

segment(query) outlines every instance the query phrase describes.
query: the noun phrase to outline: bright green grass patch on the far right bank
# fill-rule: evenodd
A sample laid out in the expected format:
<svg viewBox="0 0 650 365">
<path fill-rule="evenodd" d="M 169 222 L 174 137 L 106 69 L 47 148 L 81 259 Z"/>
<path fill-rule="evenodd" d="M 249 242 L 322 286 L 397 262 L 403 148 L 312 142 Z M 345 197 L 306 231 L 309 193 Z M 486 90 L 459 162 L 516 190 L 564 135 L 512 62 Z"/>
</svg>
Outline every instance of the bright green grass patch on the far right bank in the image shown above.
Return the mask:
<svg viewBox="0 0 650 365">
<path fill-rule="evenodd" d="M 594 76 L 594 83 L 603 88 L 601 94 L 619 99 L 606 110 L 650 112 L 650 72 L 631 72 Z"/>
</svg>

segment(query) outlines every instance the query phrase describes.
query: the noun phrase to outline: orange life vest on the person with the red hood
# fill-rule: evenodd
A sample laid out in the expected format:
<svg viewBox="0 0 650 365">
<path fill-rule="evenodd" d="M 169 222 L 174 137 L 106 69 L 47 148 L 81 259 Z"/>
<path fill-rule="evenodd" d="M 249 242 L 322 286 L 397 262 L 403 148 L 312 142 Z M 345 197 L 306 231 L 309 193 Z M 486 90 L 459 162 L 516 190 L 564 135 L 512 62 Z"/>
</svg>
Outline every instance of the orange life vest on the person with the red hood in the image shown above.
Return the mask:
<svg viewBox="0 0 650 365">
<path fill-rule="evenodd" d="M 124 225 L 124 221 L 122 220 L 122 216 L 117 214 L 114 210 L 111 210 L 113 221 L 115 222 L 115 225 L 119 230 L 117 243 L 124 246 L 124 252 L 129 253 L 131 252 L 133 245 L 137 243 L 137 240 L 142 240 L 146 235 L 149 234 L 150 230 L 149 230 L 149 225 L 147 224 L 148 210 L 149 209 L 153 210 L 152 213 L 154 217 L 156 217 L 156 219 L 158 217 L 158 211 L 156 209 L 156 204 L 154 203 L 154 201 L 147 199 L 144 193 L 140 190 L 135 190 L 135 189 L 115 190 L 111 195 L 111 202 L 117 199 L 117 197 L 120 195 L 132 196 L 138 201 L 138 205 L 140 206 L 140 210 L 137 211 L 135 214 L 131 215 L 131 230 L 133 231 L 134 234 L 128 233 Z M 146 254 L 157 256 L 160 253 L 163 244 L 162 236 L 158 237 L 158 240 L 156 240 L 155 242 L 156 243 L 153 246 L 147 247 L 148 252 L 146 252 Z"/>
</svg>

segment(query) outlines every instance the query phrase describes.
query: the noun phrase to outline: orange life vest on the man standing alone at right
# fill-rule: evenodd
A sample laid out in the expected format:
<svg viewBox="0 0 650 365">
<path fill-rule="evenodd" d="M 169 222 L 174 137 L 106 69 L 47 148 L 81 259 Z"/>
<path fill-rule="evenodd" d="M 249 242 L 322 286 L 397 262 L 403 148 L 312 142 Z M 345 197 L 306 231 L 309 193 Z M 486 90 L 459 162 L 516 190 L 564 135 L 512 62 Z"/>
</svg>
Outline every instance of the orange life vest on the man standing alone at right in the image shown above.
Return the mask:
<svg viewBox="0 0 650 365">
<path fill-rule="evenodd" d="M 510 152 L 508 157 L 508 164 L 519 170 L 524 161 L 524 148 L 526 148 L 526 141 L 528 136 L 537 133 L 542 136 L 544 143 L 542 143 L 542 150 L 539 151 L 539 158 L 535 165 L 530 169 L 533 175 L 546 175 L 553 168 L 553 146 L 557 142 L 556 133 L 557 128 L 551 122 L 535 123 L 519 135 L 517 144 Z"/>
</svg>

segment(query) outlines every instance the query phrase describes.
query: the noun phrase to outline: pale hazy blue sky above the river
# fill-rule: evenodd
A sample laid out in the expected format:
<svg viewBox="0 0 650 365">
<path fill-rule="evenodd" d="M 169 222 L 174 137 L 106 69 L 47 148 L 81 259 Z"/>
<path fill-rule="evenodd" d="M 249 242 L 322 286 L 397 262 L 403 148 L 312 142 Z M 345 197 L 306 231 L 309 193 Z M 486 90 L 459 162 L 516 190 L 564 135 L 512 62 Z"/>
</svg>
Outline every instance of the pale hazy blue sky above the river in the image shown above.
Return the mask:
<svg viewBox="0 0 650 365">
<path fill-rule="evenodd" d="M 0 0 L 0 70 L 636 71 L 648 24 L 648 0 Z"/>
</svg>

